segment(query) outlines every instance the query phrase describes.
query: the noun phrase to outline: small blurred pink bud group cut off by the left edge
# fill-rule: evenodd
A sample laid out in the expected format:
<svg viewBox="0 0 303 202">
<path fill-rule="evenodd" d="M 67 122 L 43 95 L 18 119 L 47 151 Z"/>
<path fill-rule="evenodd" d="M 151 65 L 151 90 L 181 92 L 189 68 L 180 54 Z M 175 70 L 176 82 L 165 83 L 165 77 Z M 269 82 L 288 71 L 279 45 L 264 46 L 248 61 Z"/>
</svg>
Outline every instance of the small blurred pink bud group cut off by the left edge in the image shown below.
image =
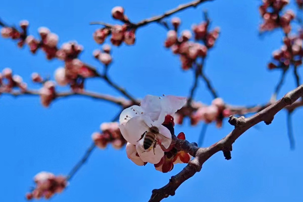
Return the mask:
<svg viewBox="0 0 303 202">
<path fill-rule="evenodd" d="M 17 74 L 14 75 L 12 69 L 5 68 L 2 73 L 0 73 L 0 93 L 11 92 L 13 88 L 19 88 L 21 92 L 25 92 L 27 84 L 23 82 L 21 76 Z"/>
</svg>

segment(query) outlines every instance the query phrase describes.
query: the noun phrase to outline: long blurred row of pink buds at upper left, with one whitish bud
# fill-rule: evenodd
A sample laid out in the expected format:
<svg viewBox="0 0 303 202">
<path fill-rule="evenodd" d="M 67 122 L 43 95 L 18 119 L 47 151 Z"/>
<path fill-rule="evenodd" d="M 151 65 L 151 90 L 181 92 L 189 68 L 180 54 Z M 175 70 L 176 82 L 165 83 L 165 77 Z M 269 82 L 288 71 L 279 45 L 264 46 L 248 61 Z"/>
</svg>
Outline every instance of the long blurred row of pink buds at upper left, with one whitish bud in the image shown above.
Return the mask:
<svg viewBox="0 0 303 202">
<path fill-rule="evenodd" d="M 18 32 L 13 27 L 3 27 L 1 29 L 2 36 L 5 38 L 18 39 L 18 45 L 27 44 L 30 52 L 35 54 L 38 49 L 42 49 L 48 60 L 59 59 L 65 62 L 65 67 L 58 68 L 55 72 L 55 78 L 59 85 L 70 85 L 73 91 L 82 90 L 84 87 L 84 79 L 97 75 L 95 69 L 89 67 L 78 59 L 83 51 L 83 46 L 76 41 L 63 43 L 58 47 L 59 36 L 51 32 L 46 27 L 38 28 L 40 39 L 32 35 L 27 35 L 28 22 L 22 21 L 20 27 L 23 32 Z M 18 33 L 18 34 L 17 34 Z M 20 45 L 20 44 L 22 45 Z"/>
</svg>

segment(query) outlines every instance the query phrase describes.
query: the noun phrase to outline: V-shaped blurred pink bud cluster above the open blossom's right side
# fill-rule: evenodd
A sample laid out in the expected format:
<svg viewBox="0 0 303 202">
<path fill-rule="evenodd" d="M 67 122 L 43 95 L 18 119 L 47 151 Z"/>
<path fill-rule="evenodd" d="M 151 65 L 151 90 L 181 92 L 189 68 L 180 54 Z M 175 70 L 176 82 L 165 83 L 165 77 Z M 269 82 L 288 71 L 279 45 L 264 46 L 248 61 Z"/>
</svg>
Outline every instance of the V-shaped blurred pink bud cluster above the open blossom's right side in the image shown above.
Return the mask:
<svg viewBox="0 0 303 202">
<path fill-rule="evenodd" d="M 182 69 L 188 70 L 192 67 L 197 58 L 205 58 L 207 52 L 212 48 L 219 37 L 220 28 L 216 27 L 209 31 L 209 20 L 192 26 L 195 42 L 189 41 L 192 34 L 189 30 L 184 30 L 178 38 L 178 28 L 181 24 L 179 18 L 171 21 L 173 29 L 167 32 L 165 47 L 171 48 L 174 54 L 180 56 Z"/>
</svg>

